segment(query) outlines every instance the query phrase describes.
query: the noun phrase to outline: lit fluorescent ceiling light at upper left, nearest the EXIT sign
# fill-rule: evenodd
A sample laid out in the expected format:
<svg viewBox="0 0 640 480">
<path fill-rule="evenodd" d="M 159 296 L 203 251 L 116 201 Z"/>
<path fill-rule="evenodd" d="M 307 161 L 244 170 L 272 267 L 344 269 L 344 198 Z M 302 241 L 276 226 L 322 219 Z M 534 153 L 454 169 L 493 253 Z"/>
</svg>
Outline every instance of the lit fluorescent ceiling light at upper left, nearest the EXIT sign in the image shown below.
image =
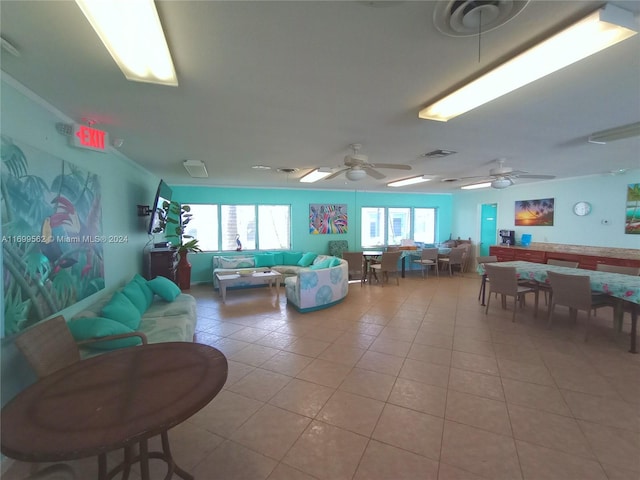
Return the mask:
<svg viewBox="0 0 640 480">
<path fill-rule="evenodd" d="M 153 0 L 76 0 L 128 80 L 178 85 Z"/>
</svg>

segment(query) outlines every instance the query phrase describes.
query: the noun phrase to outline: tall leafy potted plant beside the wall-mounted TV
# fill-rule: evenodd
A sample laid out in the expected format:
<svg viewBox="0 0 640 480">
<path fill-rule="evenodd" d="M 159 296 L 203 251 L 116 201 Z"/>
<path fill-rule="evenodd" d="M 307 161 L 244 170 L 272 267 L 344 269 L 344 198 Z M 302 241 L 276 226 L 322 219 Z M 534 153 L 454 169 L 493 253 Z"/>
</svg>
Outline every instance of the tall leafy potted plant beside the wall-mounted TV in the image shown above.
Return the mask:
<svg viewBox="0 0 640 480">
<path fill-rule="evenodd" d="M 165 236 L 169 240 L 175 239 L 178 241 L 177 244 L 174 243 L 174 248 L 176 248 L 180 256 L 177 277 L 178 286 L 181 290 L 191 288 L 191 263 L 189 263 L 187 255 L 189 252 L 202 251 L 198 246 L 198 239 L 184 233 L 192 218 L 193 214 L 189 205 L 180 205 L 178 202 L 171 201 L 166 206 L 166 215 L 164 217 L 166 222 Z"/>
</svg>

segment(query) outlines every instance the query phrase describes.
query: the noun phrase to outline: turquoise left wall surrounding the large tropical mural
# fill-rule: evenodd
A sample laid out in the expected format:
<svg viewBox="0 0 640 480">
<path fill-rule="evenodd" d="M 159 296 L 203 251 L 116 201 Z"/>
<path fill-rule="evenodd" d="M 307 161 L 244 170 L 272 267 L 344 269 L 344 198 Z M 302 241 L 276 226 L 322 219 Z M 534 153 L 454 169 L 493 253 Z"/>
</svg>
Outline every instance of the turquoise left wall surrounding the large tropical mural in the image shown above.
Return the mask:
<svg viewBox="0 0 640 480">
<path fill-rule="evenodd" d="M 142 250 L 149 241 L 146 233 L 148 217 L 139 218 L 136 205 L 148 205 L 153 202 L 160 180 L 116 150 L 99 153 L 70 147 L 68 138 L 56 131 L 56 123 L 71 123 L 74 120 L 42 101 L 4 73 L 1 81 L 0 133 L 98 174 L 103 194 L 102 233 L 126 235 L 128 239 L 126 243 L 104 245 L 105 288 L 59 312 L 69 318 L 102 295 L 111 293 L 128 281 L 134 273 L 142 271 Z M 109 130 L 108 125 L 103 128 Z M 1 220 L 0 211 L 0 223 Z M 0 311 L 3 312 L 4 320 L 4 296 L 2 299 Z M 11 338 L 4 339 L 0 348 L 4 404 L 18 389 L 32 380 L 32 374 L 21 361 L 22 357 L 17 354 Z"/>
</svg>

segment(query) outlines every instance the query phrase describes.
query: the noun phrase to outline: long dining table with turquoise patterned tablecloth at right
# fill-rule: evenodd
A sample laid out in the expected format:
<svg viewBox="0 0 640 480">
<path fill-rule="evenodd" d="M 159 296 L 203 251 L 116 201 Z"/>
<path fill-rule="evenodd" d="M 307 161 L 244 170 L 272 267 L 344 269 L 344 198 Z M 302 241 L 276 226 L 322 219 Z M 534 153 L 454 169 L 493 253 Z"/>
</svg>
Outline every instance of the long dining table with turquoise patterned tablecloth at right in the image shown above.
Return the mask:
<svg viewBox="0 0 640 480">
<path fill-rule="evenodd" d="M 636 349 L 636 334 L 638 313 L 640 313 L 640 276 L 625 275 L 622 273 L 604 272 L 600 270 L 587 270 L 582 268 L 570 268 L 546 263 L 526 262 L 521 260 L 493 263 L 492 265 L 515 267 L 516 276 L 542 284 L 548 284 L 547 272 L 564 273 L 567 275 L 586 275 L 589 277 L 591 291 L 602 293 L 625 302 L 631 311 L 631 344 L 629 352 L 638 353 Z M 483 264 L 479 264 L 477 272 L 482 275 L 481 286 L 482 304 L 484 305 L 484 290 L 486 288 L 486 273 Z M 622 315 L 622 311 L 616 309 L 616 315 Z M 618 323 L 620 323 L 618 321 Z"/>
</svg>

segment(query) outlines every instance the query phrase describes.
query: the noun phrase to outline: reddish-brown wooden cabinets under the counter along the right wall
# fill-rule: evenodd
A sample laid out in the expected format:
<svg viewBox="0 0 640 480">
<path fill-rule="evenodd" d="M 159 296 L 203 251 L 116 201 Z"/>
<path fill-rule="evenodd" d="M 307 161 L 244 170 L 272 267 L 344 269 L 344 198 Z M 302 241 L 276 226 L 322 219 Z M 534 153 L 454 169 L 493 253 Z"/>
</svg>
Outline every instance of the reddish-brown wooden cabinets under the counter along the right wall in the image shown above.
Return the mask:
<svg viewBox="0 0 640 480">
<path fill-rule="evenodd" d="M 635 251 L 632 251 L 632 258 L 620 258 L 615 256 L 607 256 L 606 249 L 603 249 L 602 254 L 596 254 L 598 252 L 592 252 L 592 254 L 576 253 L 575 247 L 571 252 L 563 252 L 560 250 L 561 246 L 555 245 L 553 249 L 535 248 L 535 247 L 503 247 L 495 245 L 489 247 L 489 255 L 495 255 L 498 257 L 499 262 L 509 262 L 512 260 L 523 260 L 526 262 L 535 263 L 547 263 L 548 260 L 565 260 L 569 262 L 578 262 L 578 268 L 585 268 L 587 270 L 595 270 L 599 263 L 607 265 L 620 265 L 625 267 L 640 267 L 640 255 L 634 255 Z M 592 250 L 596 247 L 585 247 Z"/>
</svg>

